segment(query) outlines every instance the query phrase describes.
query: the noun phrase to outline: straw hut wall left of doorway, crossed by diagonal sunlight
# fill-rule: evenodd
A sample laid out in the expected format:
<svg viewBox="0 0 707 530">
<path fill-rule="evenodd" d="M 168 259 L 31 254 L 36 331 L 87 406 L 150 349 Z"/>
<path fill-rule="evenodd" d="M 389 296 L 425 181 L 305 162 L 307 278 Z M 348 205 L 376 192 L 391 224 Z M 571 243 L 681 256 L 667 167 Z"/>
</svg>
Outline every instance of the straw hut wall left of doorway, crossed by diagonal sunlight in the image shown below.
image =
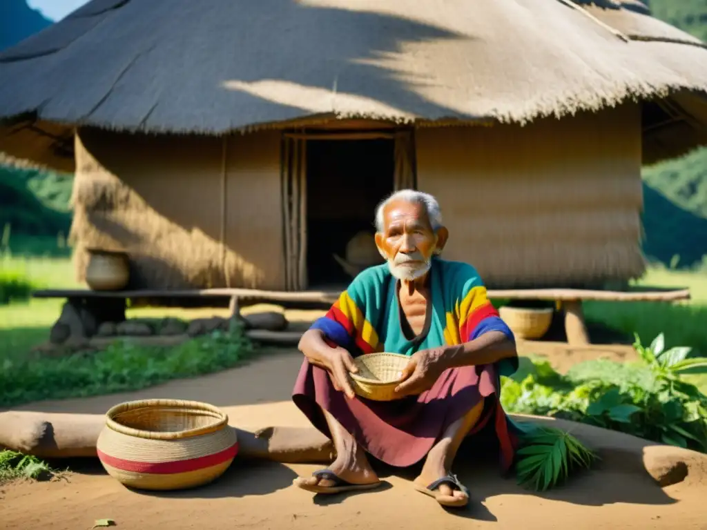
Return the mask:
<svg viewBox="0 0 707 530">
<path fill-rule="evenodd" d="M 279 134 L 76 135 L 76 269 L 124 249 L 131 288 L 281 288 Z M 223 243 L 223 244 L 222 244 Z"/>
</svg>

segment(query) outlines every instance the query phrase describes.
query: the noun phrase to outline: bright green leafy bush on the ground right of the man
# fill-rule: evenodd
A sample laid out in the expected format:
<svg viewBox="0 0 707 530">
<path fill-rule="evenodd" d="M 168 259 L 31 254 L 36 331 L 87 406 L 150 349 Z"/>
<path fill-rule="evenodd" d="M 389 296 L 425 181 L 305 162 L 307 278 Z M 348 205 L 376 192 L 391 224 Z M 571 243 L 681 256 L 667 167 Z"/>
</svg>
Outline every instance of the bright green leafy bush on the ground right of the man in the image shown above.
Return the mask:
<svg viewBox="0 0 707 530">
<path fill-rule="evenodd" d="M 504 380 L 501 401 L 510 412 L 566 418 L 707 452 L 707 396 L 681 377 L 705 372 L 707 358 L 689 358 L 690 348 L 665 350 L 664 344 L 662 334 L 648 347 L 636 337 L 641 363 L 590 361 L 566 376 L 548 363 L 534 363 L 522 380 Z"/>
</svg>

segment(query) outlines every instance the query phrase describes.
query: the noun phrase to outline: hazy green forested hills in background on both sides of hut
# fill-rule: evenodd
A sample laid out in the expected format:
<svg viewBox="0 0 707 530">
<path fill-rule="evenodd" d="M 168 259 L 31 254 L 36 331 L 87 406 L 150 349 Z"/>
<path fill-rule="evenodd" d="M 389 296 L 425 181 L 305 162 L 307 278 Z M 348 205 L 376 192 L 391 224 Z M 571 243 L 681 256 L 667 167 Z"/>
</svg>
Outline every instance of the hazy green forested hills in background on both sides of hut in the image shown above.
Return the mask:
<svg viewBox="0 0 707 530">
<path fill-rule="evenodd" d="M 0 47 L 51 21 L 24 0 L 3 0 Z M 650 0 L 653 16 L 707 42 L 707 0 Z M 71 175 L 0 165 L 0 250 L 69 253 Z M 645 254 L 665 266 L 705 267 L 707 148 L 643 169 Z"/>
</svg>

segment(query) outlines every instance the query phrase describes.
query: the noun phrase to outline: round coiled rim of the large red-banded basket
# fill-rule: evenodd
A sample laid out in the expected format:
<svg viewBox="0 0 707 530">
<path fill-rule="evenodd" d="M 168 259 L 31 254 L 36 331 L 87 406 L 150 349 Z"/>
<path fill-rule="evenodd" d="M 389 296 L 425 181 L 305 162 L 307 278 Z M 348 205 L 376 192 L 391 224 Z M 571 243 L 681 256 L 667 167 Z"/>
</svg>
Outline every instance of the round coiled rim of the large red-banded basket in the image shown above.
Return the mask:
<svg viewBox="0 0 707 530">
<path fill-rule="evenodd" d="M 193 429 L 180 430 L 176 432 L 161 432 L 157 430 L 134 429 L 118 423 L 113 418 L 120 413 L 135 410 L 137 408 L 151 407 L 171 407 L 171 408 L 188 408 L 197 411 L 205 411 L 214 413 L 218 418 L 214 418 L 214 423 L 202 425 Z M 139 399 L 136 401 L 124 401 L 115 406 L 112 406 L 105 413 L 105 425 L 115 432 L 127 436 L 137 438 L 146 438 L 149 440 L 180 440 L 192 436 L 206 435 L 209 432 L 221 430 L 228 425 L 228 414 L 220 408 L 201 401 L 188 401 L 186 399 Z"/>
</svg>

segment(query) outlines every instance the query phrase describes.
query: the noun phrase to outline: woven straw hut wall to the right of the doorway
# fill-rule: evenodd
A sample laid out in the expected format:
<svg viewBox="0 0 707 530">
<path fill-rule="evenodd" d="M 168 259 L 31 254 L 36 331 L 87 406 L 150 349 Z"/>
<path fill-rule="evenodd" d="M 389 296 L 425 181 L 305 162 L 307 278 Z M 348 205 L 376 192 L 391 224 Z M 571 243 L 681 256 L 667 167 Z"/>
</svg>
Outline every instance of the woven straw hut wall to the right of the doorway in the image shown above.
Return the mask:
<svg viewBox="0 0 707 530">
<path fill-rule="evenodd" d="M 419 189 L 494 286 L 592 285 L 644 270 L 636 105 L 529 126 L 419 129 Z"/>
</svg>

